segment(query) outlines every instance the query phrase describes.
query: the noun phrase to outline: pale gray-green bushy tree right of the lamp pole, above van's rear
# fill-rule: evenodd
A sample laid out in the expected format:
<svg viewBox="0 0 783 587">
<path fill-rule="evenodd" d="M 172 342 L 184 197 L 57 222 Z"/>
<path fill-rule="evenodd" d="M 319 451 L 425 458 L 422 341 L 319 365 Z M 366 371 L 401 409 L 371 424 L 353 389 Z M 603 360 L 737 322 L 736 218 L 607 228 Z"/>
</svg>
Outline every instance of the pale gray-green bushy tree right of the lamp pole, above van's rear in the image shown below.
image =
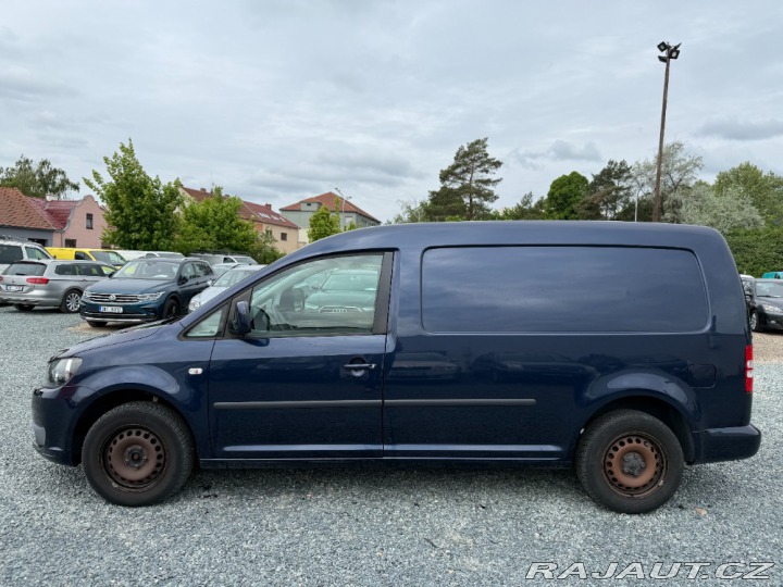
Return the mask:
<svg viewBox="0 0 783 587">
<path fill-rule="evenodd" d="M 673 198 L 682 198 L 676 207 L 676 222 L 682 224 L 711 226 L 723 235 L 765 225 L 750 198 L 735 189 L 718 193 L 709 184 L 699 182 L 687 193 Z"/>
</svg>

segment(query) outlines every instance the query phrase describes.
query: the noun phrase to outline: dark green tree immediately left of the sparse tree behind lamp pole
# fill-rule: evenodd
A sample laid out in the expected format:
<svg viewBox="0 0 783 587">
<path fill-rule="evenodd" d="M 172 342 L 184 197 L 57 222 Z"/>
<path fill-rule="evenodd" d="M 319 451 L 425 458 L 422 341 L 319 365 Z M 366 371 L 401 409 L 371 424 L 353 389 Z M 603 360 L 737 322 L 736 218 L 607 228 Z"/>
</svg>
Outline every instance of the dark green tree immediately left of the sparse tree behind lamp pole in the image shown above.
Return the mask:
<svg viewBox="0 0 783 587">
<path fill-rule="evenodd" d="M 582 220 L 618 220 L 619 214 L 633 205 L 631 166 L 625 161 L 609 160 L 593 175 L 587 197 L 576 205 Z"/>
</svg>

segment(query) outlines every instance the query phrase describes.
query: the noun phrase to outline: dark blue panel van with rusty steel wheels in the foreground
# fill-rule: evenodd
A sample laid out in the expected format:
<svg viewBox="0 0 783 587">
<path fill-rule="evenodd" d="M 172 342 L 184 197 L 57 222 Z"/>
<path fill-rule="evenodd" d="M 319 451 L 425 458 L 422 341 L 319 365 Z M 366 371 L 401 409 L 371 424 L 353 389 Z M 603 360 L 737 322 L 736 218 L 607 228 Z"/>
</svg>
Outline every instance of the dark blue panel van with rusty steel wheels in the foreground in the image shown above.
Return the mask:
<svg viewBox="0 0 783 587">
<path fill-rule="evenodd" d="M 619 222 L 382 226 L 300 249 L 196 312 L 77 345 L 37 450 L 107 500 L 202 467 L 571 467 L 620 512 L 753 457 L 753 347 L 719 233 Z"/>
</svg>

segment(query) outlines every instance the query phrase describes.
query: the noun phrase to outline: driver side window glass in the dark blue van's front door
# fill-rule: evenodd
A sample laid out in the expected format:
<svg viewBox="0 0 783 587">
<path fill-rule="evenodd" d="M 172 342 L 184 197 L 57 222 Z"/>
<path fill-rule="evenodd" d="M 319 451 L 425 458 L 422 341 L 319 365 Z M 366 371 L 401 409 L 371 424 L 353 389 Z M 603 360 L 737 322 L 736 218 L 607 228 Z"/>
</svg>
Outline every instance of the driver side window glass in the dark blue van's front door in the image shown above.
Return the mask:
<svg viewBox="0 0 783 587">
<path fill-rule="evenodd" d="M 383 253 L 301 263 L 250 296 L 251 336 L 371 334 Z"/>
</svg>

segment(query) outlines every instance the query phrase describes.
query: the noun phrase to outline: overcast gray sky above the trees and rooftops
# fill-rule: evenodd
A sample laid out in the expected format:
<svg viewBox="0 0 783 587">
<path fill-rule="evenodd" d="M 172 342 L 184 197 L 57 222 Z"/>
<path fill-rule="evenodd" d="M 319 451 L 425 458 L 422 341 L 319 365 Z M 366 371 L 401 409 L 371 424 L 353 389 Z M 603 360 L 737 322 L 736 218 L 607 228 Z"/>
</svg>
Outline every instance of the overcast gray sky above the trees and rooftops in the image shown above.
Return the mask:
<svg viewBox="0 0 783 587">
<path fill-rule="evenodd" d="M 783 174 L 783 2 L 14 1 L 0 166 L 78 180 L 132 138 L 147 173 L 278 209 L 339 187 L 381 220 L 489 138 L 496 207 L 656 157 Z M 82 186 L 80 195 L 89 189 Z"/>
</svg>

